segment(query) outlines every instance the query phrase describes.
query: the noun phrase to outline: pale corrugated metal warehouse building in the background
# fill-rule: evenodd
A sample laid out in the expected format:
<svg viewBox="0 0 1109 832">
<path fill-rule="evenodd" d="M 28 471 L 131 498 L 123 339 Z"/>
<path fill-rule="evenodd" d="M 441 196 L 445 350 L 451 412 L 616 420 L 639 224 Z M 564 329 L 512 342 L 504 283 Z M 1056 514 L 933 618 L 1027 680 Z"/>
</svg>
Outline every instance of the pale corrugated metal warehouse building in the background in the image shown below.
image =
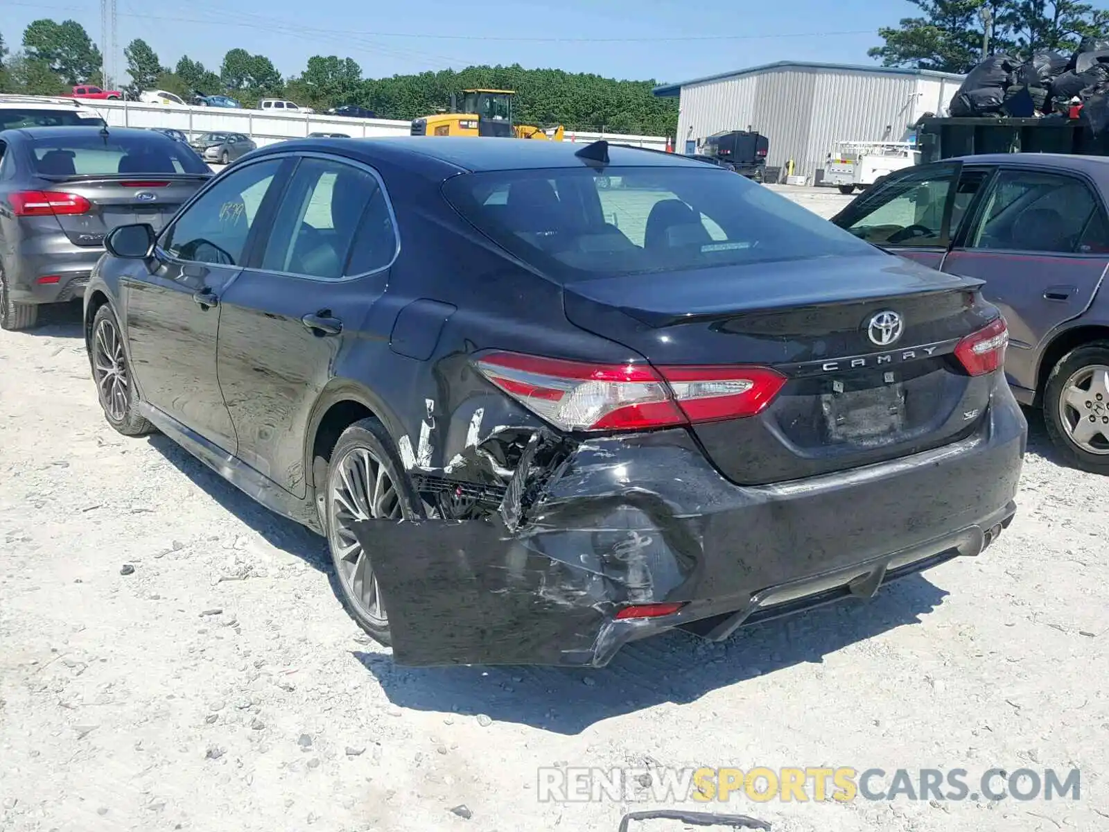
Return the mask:
<svg viewBox="0 0 1109 832">
<path fill-rule="evenodd" d="M 679 153 L 693 153 L 713 133 L 756 130 L 770 140 L 770 168 L 793 160 L 814 182 L 840 140 L 907 140 L 924 113 L 946 114 L 963 75 L 927 70 L 781 61 L 665 87 L 681 97 Z"/>
</svg>

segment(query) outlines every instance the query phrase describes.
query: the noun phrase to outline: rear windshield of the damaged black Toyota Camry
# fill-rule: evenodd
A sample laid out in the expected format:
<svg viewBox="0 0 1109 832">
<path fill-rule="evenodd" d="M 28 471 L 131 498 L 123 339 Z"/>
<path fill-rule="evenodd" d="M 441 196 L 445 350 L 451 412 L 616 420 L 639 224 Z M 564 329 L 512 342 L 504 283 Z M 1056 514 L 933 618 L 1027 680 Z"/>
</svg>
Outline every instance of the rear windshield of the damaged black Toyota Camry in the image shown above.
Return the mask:
<svg viewBox="0 0 1109 832">
<path fill-rule="evenodd" d="M 878 253 L 710 165 L 470 173 L 444 194 L 495 242 L 567 281 Z"/>
</svg>

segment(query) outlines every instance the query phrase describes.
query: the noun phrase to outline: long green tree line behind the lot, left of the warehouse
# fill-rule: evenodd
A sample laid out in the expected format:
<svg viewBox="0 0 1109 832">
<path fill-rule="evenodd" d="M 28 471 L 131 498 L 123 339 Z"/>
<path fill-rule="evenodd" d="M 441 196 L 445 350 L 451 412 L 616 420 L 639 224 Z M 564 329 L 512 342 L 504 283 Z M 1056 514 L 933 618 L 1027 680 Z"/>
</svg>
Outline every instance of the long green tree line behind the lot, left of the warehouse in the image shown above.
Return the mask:
<svg viewBox="0 0 1109 832">
<path fill-rule="evenodd" d="M 369 108 L 379 118 L 410 120 L 447 109 L 451 93 L 475 87 L 517 91 L 516 120 L 567 130 L 673 135 L 678 102 L 651 94 L 654 80 L 618 81 L 582 72 L 511 67 L 467 67 L 391 78 L 363 78 L 350 58 L 314 55 L 299 74 L 284 78 L 273 62 L 245 49 L 232 49 L 218 68 L 189 55 L 170 67 L 146 41 L 131 41 L 123 51 L 130 83 L 143 90 L 166 90 L 187 100 L 194 93 L 231 95 L 252 106 L 261 98 L 287 98 L 317 111 L 342 104 Z M 79 83 L 101 83 L 100 50 L 73 20 L 35 20 L 23 32 L 22 50 L 8 55 L 0 39 L 0 92 L 57 95 Z"/>
</svg>

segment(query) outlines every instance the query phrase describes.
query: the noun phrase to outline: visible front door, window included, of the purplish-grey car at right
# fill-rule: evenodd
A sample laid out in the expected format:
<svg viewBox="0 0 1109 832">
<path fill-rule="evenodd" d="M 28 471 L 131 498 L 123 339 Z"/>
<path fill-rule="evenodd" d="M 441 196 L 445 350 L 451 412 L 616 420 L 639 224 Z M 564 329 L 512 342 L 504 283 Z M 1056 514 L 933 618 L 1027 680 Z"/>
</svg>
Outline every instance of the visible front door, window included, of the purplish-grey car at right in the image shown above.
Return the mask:
<svg viewBox="0 0 1109 832">
<path fill-rule="evenodd" d="M 959 162 L 906 169 L 859 195 L 832 222 L 891 254 L 939 268 L 956 212 Z M 956 216 L 956 222 L 958 221 Z"/>
</svg>

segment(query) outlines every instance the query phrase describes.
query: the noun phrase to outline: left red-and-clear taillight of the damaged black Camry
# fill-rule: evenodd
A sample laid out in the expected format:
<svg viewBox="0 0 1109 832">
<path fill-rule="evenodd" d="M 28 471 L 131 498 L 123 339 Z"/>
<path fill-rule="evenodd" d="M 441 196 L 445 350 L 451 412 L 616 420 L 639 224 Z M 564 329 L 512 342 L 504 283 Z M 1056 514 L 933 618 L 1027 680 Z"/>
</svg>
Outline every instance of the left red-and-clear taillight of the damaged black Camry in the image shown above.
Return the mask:
<svg viewBox="0 0 1109 832">
<path fill-rule="evenodd" d="M 492 384 L 563 430 L 647 430 L 761 413 L 785 377 L 767 367 L 597 365 L 518 353 L 477 362 Z"/>
</svg>

